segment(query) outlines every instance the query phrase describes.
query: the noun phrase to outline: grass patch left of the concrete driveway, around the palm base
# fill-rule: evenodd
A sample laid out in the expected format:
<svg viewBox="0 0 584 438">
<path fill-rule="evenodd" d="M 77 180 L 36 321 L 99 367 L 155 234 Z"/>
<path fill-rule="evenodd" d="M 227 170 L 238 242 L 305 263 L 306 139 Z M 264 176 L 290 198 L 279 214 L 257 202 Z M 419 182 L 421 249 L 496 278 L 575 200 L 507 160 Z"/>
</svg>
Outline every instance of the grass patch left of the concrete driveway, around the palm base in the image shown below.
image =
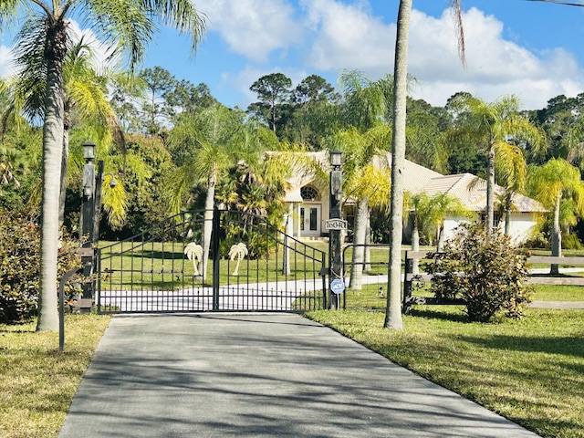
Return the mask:
<svg viewBox="0 0 584 438">
<path fill-rule="evenodd" d="M 66 318 L 65 352 L 58 333 L 36 322 L 0 325 L 0 437 L 56 437 L 110 317 Z"/>
</svg>

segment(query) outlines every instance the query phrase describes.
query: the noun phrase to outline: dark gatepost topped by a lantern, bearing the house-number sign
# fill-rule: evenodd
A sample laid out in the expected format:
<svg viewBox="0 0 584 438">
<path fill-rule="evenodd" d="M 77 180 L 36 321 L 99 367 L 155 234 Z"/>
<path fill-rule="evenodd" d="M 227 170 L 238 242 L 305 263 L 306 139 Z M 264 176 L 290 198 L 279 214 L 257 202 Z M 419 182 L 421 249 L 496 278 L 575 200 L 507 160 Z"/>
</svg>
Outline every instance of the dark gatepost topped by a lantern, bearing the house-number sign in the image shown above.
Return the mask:
<svg viewBox="0 0 584 438">
<path fill-rule="evenodd" d="M 330 208 L 329 219 L 341 219 L 340 202 L 342 200 L 343 173 L 340 170 L 342 165 L 342 152 L 330 151 Z M 340 242 L 340 227 L 329 229 L 328 238 L 328 308 L 339 309 L 339 293 L 344 290 L 342 248 Z"/>
</svg>

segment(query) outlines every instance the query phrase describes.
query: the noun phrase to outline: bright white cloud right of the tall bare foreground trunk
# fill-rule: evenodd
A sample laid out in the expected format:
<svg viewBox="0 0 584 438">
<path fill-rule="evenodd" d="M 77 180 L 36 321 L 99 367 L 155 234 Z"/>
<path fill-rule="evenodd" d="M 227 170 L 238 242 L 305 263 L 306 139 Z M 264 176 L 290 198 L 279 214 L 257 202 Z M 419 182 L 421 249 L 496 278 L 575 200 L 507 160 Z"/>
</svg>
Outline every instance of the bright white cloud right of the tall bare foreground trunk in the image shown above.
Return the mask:
<svg viewBox="0 0 584 438">
<path fill-rule="evenodd" d="M 442 106 L 457 91 L 488 101 L 516 94 L 527 109 L 546 106 L 559 94 L 584 89 L 584 71 L 561 48 L 534 53 L 503 36 L 504 25 L 476 8 L 464 14 L 467 67 L 457 57 L 453 20 L 412 11 L 409 69 L 420 79 L 416 97 Z"/>
</svg>

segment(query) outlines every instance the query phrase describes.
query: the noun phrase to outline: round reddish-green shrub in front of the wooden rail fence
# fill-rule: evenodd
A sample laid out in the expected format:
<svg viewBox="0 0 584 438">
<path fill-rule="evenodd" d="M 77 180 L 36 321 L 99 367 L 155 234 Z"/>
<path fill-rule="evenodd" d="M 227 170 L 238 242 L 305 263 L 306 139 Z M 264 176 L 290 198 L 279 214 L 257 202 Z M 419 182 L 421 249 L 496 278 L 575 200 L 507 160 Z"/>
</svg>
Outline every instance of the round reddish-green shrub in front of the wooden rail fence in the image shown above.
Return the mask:
<svg viewBox="0 0 584 438">
<path fill-rule="evenodd" d="M 531 300 L 527 254 L 506 235 L 487 235 L 484 224 L 464 224 L 424 265 L 433 275 L 434 297 L 462 298 L 470 321 L 487 322 L 499 312 L 521 318 Z"/>
</svg>

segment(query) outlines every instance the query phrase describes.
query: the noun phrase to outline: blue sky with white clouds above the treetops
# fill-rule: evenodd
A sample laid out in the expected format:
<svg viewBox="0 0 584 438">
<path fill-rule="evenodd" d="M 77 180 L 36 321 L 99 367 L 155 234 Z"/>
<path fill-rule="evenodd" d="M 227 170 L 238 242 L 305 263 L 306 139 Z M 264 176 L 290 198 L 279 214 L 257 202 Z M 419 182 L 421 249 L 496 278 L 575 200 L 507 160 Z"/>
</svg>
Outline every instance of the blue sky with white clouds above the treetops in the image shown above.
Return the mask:
<svg viewBox="0 0 584 438">
<path fill-rule="evenodd" d="M 311 74 L 336 85 L 342 69 L 370 78 L 393 70 L 398 0 L 195 0 L 207 33 L 195 57 L 187 36 L 162 29 L 145 67 L 204 82 L 225 105 L 245 108 L 263 75 L 294 86 Z M 527 109 L 584 92 L 584 7 L 526 0 L 463 0 L 467 66 L 457 57 L 448 0 L 414 0 L 410 73 L 416 98 L 443 106 L 457 91 L 486 100 L 516 94 Z M 1 42 L 0 42 L 1 43 Z M 0 45 L 0 75 L 9 58 Z"/>
</svg>

